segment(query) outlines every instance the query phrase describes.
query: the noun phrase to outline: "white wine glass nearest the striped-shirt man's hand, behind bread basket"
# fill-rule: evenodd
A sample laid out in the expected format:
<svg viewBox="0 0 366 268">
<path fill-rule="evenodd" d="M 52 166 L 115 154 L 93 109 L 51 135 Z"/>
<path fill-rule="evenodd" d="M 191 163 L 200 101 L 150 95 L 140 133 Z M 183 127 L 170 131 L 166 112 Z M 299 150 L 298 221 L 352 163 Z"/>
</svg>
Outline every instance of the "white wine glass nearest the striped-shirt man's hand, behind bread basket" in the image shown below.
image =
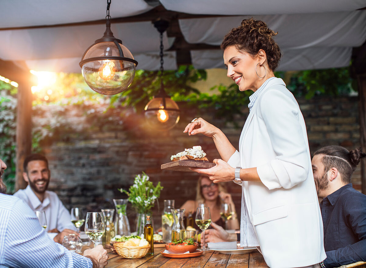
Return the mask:
<svg viewBox="0 0 366 268">
<path fill-rule="evenodd" d="M 85 219 L 85 234 L 96 246 L 97 241 L 104 235 L 104 217 L 102 212 L 88 212 Z"/>
</svg>

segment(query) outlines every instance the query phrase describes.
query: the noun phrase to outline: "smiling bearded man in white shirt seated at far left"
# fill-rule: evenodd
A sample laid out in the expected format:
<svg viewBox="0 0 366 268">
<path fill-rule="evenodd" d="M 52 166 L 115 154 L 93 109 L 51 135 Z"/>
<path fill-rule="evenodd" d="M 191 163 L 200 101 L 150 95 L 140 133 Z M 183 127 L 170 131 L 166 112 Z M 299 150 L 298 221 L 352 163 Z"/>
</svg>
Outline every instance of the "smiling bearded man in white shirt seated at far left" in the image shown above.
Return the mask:
<svg viewBox="0 0 366 268">
<path fill-rule="evenodd" d="M 23 179 L 28 183 L 25 189 L 18 190 L 14 196 L 22 199 L 33 211 L 44 211 L 51 238 L 61 243 L 63 235 L 75 233 L 76 227 L 60 198 L 53 191 L 47 191 L 51 172 L 48 160 L 40 154 L 27 156 L 23 163 Z M 57 235 L 62 233 L 62 236 Z M 61 237 L 61 239 L 58 239 Z"/>
</svg>

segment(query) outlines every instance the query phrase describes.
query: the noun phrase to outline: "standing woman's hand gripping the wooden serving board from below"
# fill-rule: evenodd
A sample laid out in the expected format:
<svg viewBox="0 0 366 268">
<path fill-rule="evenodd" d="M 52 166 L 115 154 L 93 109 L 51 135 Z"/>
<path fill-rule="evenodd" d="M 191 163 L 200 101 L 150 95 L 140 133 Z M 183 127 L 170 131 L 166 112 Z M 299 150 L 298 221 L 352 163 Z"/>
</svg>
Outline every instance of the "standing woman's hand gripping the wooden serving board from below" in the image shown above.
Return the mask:
<svg viewBox="0 0 366 268">
<path fill-rule="evenodd" d="M 208 175 L 214 183 L 228 182 L 235 179 L 235 168 L 231 167 L 231 165 L 222 159 L 214 159 L 213 163 L 216 166 L 212 168 L 190 168 L 190 170 Z"/>
</svg>

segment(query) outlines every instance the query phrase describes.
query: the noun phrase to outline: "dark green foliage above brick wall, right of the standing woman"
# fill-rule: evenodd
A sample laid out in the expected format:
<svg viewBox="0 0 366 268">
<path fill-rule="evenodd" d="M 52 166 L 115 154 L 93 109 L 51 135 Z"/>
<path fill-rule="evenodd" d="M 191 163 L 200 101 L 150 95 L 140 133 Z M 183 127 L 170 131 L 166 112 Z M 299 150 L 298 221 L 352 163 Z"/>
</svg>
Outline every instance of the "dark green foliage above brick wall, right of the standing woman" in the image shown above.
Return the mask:
<svg viewBox="0 0 366 268">
<path fill-rule="evenodd" d="M 349 67 L 296 72 L 287 88 L 295 97 L 307 99 L 315 95 L 345 95 L 356 89 Z"/>
</svg>

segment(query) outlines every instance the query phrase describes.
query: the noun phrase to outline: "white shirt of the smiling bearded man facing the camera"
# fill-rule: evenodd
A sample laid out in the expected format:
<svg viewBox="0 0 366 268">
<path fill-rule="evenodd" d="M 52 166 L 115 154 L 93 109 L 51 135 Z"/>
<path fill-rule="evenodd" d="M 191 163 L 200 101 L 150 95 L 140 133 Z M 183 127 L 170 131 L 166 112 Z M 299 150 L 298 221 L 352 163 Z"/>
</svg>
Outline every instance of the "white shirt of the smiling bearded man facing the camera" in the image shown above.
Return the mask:
<svg viewBox="0 0 366 268">
<path fill-rule="evenodd" d="M 53 229 L 57 229 L 60 232 L 64 229 L 76 231 L 76 227 L 71 222 L 70 213 L 55 192 L 45 191 L 44 200 L 41 202 L 28 185 L 26 189 L 18 190 L 14 193 L 14 196 L 22 199 L 33 211 L 45 212 L 47 220 L 46 232 Z"/>
</svg>

